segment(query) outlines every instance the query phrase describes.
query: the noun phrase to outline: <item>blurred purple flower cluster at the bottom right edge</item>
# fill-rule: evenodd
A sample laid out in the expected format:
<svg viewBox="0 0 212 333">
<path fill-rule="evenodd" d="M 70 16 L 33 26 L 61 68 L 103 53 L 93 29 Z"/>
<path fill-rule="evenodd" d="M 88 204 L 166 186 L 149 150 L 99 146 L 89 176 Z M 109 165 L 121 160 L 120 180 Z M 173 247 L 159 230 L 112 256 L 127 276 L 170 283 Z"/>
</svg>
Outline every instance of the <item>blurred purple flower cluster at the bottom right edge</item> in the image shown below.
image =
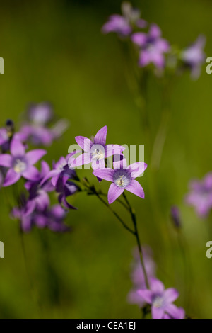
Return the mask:
<svg viewBox="0 0 212 333">
<path fill-rule="evenodd" d="M 151 305 L 153 319 L 184 319 L 185 312 L 182 307 L 177 307 L 175 300 L 179 293 L 175 288 L 165 289 L 163 283 L 155 278 L 155 263 L 151 249 L 143 249 L 143 262 L 150 288 L 146 288 L 143 269 L 139 260 L 139 254 L 134 253 L 135 261 L 132 268 L 131 279 L 134 287 L 128 295 L 129 303 L 137 304 L 143 308 L 146 304 Z"/>
</svg>

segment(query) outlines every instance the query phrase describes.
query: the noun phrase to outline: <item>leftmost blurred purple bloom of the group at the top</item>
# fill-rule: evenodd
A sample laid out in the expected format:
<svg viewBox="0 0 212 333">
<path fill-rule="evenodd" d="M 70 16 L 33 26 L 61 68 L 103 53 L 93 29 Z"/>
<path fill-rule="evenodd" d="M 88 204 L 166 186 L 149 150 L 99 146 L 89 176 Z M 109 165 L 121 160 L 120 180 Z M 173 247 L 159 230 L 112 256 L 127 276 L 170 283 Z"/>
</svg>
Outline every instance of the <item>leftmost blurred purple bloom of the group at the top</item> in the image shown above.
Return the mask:
<svg viewBox="0 0 212 333">
<path fill-rule="evenodd" d="M 122 4 L 122 15 L 114 14 L 102 26 L 102 33 L 117 33 L 120 37 L 127 37 L 131 34 L 134 26 L 138 28 L 146 27 L 146 21 L 141 20 L 140 11 L 132 8 L 131 4 Z"/>
</svg>

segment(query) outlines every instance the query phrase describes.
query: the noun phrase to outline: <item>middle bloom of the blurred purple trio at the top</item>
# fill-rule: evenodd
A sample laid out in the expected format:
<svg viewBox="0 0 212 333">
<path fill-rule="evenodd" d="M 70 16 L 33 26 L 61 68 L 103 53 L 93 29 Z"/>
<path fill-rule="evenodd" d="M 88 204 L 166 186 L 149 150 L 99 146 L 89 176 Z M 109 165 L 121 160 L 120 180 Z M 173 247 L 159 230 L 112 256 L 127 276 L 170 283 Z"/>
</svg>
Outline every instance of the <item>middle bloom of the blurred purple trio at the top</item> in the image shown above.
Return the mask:
<svg viewBox="0 0 212 333">
<path fill-rule="evenodd" d="M 161 38 L 160 28 L 152 24 L 146 33 L 134 33 L 131 40 L 140 47 L 139 66 L 146 67 L 151 62 L 158 69 L 165 66 L 164 54 L 170 50 L 167 40 Z"/>
</svg>

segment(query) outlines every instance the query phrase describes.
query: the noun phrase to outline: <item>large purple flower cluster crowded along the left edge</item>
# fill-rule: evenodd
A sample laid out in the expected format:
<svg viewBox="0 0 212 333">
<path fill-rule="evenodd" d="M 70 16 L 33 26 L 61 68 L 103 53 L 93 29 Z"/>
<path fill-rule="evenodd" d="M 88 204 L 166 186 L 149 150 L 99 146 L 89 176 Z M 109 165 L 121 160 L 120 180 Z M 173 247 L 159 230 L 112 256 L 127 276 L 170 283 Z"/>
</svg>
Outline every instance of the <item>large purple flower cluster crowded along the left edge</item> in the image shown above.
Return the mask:
<svg viewBox="0 0 212 333">
<path fill-rule="evenodd" d="M 76 209 L 66 198 L 79 190 L 73 182 L 76 172 L 69 169 L 68 160 L 61 157 L 53 163 L 52 170 L 47 162 L 41 161 L 40 171 L 35 164 L 47 154 L 45 149 L 29 149 L 28 145 L 49 145 L 58 138 L 65 129 L 61 120 L 53 128 L 47 123 L 52 119 L 52 108 L 47 103 L 31 106 L 28 110 L 29 123 L 15 131 L 13 122 L 8 120 L 6 126 L 0 129 L 0 186 L 13 186 L 16 191 L 14 200 L 16 206 L 11 210 L 11 216 L 20 221 L 24 232 L 29 232 L 33 225 L 48 227 L 55 232 L 70 230 L 64 224 L 68 209 Z M 28 151 L 27 151 L 28 150 Z M 20 186 L 16 183 L 23 179 Z M 50 193 L 57 195 L 57 203 L 51 205 Z"/>
</svg>

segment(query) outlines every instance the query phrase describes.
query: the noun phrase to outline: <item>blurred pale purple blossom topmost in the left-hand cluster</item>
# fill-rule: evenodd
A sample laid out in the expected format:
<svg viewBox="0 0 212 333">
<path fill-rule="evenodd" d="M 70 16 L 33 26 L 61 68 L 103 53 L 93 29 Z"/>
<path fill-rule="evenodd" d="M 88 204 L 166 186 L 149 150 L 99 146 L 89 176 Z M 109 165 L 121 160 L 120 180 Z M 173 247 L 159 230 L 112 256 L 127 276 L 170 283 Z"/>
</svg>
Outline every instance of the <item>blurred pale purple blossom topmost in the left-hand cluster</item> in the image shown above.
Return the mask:
<svg viewBox="0 0 212 333">
<path fill-rule="evenodd" d="M 33 145 L 49 146 L 66 130 L 65 120 L 60 120 L 52 128 L 48 127 L 53 118 L 52 106 L 49 103 L 32 105 L 28 109 L 29 122 L 20 128 L 22 141 L 30 140 Z"/>
</svg>

